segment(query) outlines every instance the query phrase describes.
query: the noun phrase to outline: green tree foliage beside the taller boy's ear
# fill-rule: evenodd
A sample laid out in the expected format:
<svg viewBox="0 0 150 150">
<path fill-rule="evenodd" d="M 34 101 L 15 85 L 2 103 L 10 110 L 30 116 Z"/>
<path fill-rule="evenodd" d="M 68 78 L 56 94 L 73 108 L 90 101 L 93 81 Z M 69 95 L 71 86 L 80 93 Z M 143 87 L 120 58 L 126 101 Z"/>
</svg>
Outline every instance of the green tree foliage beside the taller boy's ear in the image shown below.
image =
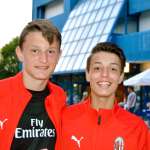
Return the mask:
<svg viewBox="0 0 150 150">
<path fill-rule="evenodd" d="M 14 38 L 10 43 L 1 48 L 0 79 L 15 75 L 19 72 L 19 61 L 15 49 L 19 38 Z"/>
</svg>

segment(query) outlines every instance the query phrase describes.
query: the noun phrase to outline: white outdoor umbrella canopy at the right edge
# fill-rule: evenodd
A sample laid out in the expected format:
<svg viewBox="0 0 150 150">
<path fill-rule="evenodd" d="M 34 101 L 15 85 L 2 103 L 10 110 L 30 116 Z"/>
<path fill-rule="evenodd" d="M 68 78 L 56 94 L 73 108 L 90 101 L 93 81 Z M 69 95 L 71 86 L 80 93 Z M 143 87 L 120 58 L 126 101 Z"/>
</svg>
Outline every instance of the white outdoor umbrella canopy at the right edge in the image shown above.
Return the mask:
<svg viewBox="0 0 150 150">
<path fill-rule="evenodd" d="M 123 84 L 125 86 L 148 86 L 150 85 L 150 69 L 147 69 L 125 80 Z"/>
</svg>

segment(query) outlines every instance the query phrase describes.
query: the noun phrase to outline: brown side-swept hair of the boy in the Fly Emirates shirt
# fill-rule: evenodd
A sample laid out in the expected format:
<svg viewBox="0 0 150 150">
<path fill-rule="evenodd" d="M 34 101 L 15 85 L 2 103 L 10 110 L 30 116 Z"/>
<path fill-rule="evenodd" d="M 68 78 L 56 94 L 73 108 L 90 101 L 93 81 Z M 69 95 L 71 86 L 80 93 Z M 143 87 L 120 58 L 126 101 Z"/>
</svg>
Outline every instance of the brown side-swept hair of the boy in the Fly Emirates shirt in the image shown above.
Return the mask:
<svg viewBox="0 0 150 150">
<path fill-rule="evenodd" d="M 26 36 L 30 32 L 37 31 L 42 32 L 43 37 L 49 42 L 49 44 L 52 44 L 56 38 L 61 46 L 61 33 L 59 30 L 49 20 L 37 19 L 29 22 L 23 29 L 19 39 L 20 48 L 22 48 Z"/>
</svg>

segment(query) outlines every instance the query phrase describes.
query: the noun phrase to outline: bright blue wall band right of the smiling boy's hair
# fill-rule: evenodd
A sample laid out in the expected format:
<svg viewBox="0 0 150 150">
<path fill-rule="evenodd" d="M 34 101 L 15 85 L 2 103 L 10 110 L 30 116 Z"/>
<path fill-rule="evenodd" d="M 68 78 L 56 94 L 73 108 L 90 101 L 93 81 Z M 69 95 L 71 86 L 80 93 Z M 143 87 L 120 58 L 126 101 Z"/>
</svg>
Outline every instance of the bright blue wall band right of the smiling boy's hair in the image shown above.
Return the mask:
<svg viewBox="0 0 150 150">
<path fill-rule="evenodd" d="M 150 31 L 128 35 L 114 34 L 112 41 L 125 50 L 129 62 L 150 61 Z"/>
</svg>

